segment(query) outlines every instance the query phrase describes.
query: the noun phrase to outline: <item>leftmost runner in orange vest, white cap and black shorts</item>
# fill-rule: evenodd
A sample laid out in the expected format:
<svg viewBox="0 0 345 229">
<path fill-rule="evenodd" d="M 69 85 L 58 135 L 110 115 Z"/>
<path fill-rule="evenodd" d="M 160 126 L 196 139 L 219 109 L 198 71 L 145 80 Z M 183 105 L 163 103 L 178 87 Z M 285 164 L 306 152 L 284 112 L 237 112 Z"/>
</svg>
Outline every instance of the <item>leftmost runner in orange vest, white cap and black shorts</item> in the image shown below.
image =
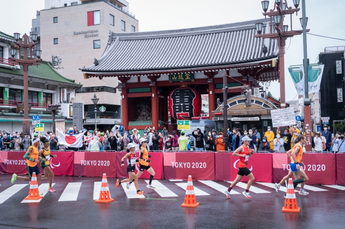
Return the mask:
<svg viewBox="0 0 345 229">
<path fill-rule="evenodd" d="M 16 173 L 13 173 L 12 179 L 11 179 L 12 184 L 14 181 L 16 181 L 16 179 L 20 179 L 20 180 L 24 180 L 24 181 L 31 181 L 31 176 L 33 175 L 33 172 L 36 172 L 37 184 L 38 184 L 38 186 L 40 185 L 40 183 L 41 183 L 41 171 L 39 170 L 37 163 L 39 163 L 39 160 L 41 159 L 41 157 L 38 156 L 38 149 L 37 149 L 38 145 L 39 145 L 39 138 L 35 137 L 33 139 L 33 144 L 28 148 L 27 152 L 24 155 L 24 158 L 26 159 L 29 177 L 18 176 Z M 39 195 L 43 195 L 43 194 L 39 193 Z"/>
</svg>

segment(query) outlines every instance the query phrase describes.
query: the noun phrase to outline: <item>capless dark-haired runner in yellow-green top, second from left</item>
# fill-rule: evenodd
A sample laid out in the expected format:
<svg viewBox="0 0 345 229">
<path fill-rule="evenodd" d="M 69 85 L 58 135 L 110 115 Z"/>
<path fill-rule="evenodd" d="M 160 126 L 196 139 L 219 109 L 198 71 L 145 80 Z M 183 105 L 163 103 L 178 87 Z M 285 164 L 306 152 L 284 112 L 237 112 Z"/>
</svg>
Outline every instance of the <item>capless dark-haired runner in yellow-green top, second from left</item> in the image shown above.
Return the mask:
<svg viewBox="0 0 345 229">
<path fill-rule="evenodd" d="M 52 188 L 53 179 L 54 179 L 54 172 L 50 169 L 49 165 L 50 165 L 50 158 L 56 157 L 56 155 L 50 154 L 50 147 L 49 147 L 50 141 L 48 139 L 46 139 L 45 137 L 40 137 L 40 141 L 43 143 L 43 148 L 41 148 L 38 151 L 38 154 L 39 154 L 39 156 L 42 157 L 41 168 L 44 171 L 44 176 L 42 176 L 41 179 L 49 177 L 48 192 L 54 193 L 54 192 L 56 192 Z"/>
</svg>

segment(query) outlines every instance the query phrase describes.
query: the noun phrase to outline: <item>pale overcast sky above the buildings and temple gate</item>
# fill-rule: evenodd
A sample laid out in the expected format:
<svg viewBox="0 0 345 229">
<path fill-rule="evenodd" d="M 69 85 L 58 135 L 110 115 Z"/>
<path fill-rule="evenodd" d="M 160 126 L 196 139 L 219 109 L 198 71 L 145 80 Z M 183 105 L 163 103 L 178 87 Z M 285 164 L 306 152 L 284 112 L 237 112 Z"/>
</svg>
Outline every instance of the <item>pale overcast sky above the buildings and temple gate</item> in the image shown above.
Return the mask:
<svg viewBox="0 0 345 229">
<path fill-rule="evenodd" d="M 129 11 L 139 21 L 139 31 L 185 29 L 221 25 L 264 18 L 261 0 L 127 0 Z M 292 0 L 288 6 L 295 8 Z M 0 0 L 0 31 L 13 34 L 29 33 L 31 20 L 36 10 L 44 8 L 44 0 Z M 269 10 L 274 6 L 270 0 Z M 299 8 L 302 7 L 302 0 Z M 344 0 L 306 0 L 307 29 L 310 33 L 345 39 L 343 14 Z M 302 9 L 292 15 L 294 30 L 302 29 Z M 289 25 L 290 15 L 284 25 Z M 318 54 L 325 47 L 345 46 L 344 40 L 329 39 L 307 34 L 308 58 L 310 63 L 318 62 Z M 44 52 L 44 50 L 43 50 Z M 293 85 L 288 67 L 303 62 L 303 36 L 297 35 L 286 40 L 285 46 L 285 96 L 286 101 L 296 100 L 297 91 Z M 268 91 L 280 97 L 279 83 L 271 82 Z"/>
</svg>

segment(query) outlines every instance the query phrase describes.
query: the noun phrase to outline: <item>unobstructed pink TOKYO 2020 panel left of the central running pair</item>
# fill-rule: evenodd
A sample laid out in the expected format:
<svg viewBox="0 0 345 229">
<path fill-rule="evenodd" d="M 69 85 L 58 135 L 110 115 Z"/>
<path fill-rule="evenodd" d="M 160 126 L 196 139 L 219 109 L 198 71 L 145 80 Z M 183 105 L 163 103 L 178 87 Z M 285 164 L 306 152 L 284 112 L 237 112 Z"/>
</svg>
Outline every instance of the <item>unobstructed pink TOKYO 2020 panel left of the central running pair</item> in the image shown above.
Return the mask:
<svg viewBox="0 0 345 229">
<path fill-rule="evenodd" d="M 116 152 L 74 152 L 74 176 L 116 177 Z"/>
</svg>

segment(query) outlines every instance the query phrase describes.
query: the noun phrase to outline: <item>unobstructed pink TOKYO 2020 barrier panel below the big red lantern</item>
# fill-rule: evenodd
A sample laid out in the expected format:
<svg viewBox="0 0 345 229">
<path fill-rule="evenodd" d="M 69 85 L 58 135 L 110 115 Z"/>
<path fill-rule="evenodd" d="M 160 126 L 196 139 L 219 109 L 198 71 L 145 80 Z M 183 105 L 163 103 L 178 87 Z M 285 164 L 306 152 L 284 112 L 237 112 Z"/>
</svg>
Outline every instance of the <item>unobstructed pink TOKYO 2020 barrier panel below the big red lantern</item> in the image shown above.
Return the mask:
<svg viewBox="0 0 345 229">
<path fill-rule="evenodd" d="M 165 152 L 164 178 L 214 180 L 214 152 Z"/>
</svg>

